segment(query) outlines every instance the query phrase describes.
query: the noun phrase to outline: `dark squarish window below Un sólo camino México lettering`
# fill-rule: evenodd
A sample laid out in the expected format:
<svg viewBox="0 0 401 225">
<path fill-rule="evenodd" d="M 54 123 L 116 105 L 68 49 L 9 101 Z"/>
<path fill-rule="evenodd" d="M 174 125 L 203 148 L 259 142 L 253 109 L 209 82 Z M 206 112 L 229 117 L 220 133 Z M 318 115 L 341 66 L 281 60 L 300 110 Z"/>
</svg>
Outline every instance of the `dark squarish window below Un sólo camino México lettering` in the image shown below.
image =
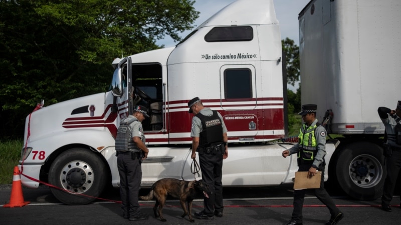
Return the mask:
<svg viewBox="0 0 401 225">
<path fill-rule="evenodd" d="M 224 95 L 227 100 L 252 99 L 252 72 L 249 68 L 224 71 Z"/>
</svg>

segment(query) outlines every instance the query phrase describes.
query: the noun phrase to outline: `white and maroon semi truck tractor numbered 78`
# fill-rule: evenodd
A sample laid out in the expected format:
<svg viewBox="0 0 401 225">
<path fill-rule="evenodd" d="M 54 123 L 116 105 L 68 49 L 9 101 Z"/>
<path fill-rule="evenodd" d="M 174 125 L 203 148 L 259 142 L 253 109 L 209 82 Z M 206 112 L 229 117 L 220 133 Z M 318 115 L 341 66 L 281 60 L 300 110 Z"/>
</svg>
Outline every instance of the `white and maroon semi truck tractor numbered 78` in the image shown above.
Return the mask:
<svg viewBox="0 0 401 225">
<path fill-rule="evenodd" d="M 27 116 L 19 165 L 25 186 L 50 183 L 57 187 L 52 187 L 53 194 L 66 204 L 89 203 L 110 183 L 118 187 L 115 135 L 119 122 L 132 113 L 135 104 L 150 110 L 150 118 L 143 122 L 149 154 L 142 163 L 142 185 L 164 177 L 193 179 L 192 115 L 187 102 L 195 96 L 206 107 L 218 110 L 228 128 L 224 186 L 293 182 L 296 155 L 283 158 L 281 152 L 294 143 L 275 141 L 285 137 L 287 88 L 273 0 L 235 1 L 176 46 L 118 58 L 113 64 L 109 91 L 42 107 Z M 317 103 L 319 113 L 324 113 L 322 103 Z M 342 156 L 344 151 L 337 153 L 338 142 L 326 143 L 326 174 L 334 176 L 336 172 L 329 169 L 332 155 Z M 381 166 L 380 155 L 361 157 Z M 343 163 L 337 156 L 334 159 Z M 343 163 L 346 171 L 353 160 Z M 376 186 L 381 183 L 374 184 L 356 185 L 357 191 L 365 193 L 356 197 L 380 194 Z"/>
</svg>

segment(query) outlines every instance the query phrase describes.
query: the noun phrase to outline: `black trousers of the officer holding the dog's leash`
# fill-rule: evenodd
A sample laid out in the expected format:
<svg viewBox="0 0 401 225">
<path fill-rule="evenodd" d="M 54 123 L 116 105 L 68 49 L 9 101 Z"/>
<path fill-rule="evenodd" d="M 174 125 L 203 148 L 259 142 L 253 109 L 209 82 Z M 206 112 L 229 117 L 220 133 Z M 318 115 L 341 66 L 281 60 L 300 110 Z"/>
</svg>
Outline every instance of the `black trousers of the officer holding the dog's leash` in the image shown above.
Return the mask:
<svg viewBox="0 0 401 225">
<path fill-rule="evenodd" d="M 212 216 L 214 211 L 223 212 L 222 167 L 223 154 L 199 153 L 202 180 L 209 185 L 211 193 L 204 198 L 205 213 Z"/>
</svg>

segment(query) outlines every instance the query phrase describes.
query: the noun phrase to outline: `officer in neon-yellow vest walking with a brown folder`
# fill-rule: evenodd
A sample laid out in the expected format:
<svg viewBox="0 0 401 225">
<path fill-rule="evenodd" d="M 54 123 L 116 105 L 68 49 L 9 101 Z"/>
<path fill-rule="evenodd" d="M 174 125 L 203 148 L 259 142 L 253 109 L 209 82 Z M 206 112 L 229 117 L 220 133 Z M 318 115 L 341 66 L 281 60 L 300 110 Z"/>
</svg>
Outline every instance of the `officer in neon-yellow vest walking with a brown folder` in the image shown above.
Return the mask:
<svg viewBox="0 0 401 225">
<path fill-rule="evenodd" d="M 288 150 L 284 150 L 282 155 L 287 157 L 297 153 L 298 171 L 308 171 L 308 176 L 314 176 L 316 171 L 322 172 L 320 187 L 314 189 L 316 197 L 324 203 L 331 214 L 330 220 L 326 224 L 336 224 L 344 214 L 338 209 L 333 199 L 324 189 L 324 155 L 326 154 L 326 129 L 320 125 L 316 119 L 316 104 L 302 105 L 302 115 L 304 123 L 299 130 L 298 143 Z M 304 203 L 305 189 L 294 190 L 294 209 L 291 220 L 286 225 L 302 224 L 302 207 Z"/>
</svg>

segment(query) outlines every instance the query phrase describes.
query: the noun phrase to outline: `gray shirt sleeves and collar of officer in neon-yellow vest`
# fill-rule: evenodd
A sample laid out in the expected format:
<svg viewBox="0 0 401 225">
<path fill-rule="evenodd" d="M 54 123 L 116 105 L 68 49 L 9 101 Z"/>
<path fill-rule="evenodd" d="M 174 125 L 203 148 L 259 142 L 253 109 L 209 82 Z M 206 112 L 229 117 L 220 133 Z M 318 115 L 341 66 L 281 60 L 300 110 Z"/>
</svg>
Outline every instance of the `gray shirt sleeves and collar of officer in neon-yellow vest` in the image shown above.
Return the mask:
<svg viewBox="0 0 401 225">
<path fill-rule="evenodd" d="M 317 123 L 317 119 L 312 122 L 311 126 L 315 126 Z M 319 166 L 320 163 L 323 162 L 323 157 L 326 155 L 326 129 L 323 126 L 317 126 L 315 130 L 316 135 L 316 145 L 317 145 L 317 153 L 315 155 L 315 159 L 313 164 L 315 166 Z M 299 143 L 292 146 L 290 149 L 290 154 L 296 153 L 299 151 Z"/>
</svg>

